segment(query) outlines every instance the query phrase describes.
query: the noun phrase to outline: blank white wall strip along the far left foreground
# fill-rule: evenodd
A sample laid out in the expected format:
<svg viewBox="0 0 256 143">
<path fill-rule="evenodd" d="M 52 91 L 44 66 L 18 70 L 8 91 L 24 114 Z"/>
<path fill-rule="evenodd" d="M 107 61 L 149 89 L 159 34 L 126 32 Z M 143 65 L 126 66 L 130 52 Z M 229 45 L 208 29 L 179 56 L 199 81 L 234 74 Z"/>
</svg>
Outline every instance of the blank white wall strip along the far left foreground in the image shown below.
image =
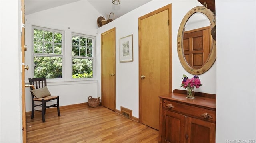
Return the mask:
<svg viewBox="0 0 256 143">
<path fill-rule="evenodd" d="M 22 142 L 18 0 L 0 0 L 0 143 Z"/>
</svg>

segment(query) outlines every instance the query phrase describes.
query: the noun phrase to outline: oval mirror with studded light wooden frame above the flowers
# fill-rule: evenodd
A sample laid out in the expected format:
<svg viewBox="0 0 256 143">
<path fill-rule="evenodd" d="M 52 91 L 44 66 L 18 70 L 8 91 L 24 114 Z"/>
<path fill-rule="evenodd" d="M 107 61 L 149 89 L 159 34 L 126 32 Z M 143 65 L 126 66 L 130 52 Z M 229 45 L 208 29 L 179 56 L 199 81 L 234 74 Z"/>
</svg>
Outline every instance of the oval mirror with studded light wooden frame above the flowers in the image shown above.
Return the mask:
<svg viewBox="0 0 256 143">
<path fill-rule="evenodd" d="M 178 31 L 177 51 L 180 63 L 190 74 L 208 71 L 216 60 L 216 41 L 211 30 L 214 14 L 204 6 L 192 8 L 183 18 Z"/>
</svg>

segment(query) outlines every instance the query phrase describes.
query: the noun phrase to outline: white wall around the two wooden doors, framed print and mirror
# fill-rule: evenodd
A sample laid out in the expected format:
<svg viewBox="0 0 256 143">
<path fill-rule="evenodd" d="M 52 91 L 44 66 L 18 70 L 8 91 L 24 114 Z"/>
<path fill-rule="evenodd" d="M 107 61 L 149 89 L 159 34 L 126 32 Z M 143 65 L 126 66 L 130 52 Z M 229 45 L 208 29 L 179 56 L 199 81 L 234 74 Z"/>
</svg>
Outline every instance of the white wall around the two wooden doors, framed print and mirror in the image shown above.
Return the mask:
<svg viewBox="0 0 256 143">
<path fill-rule="evenodd" d="M 120 106 L 124 106 L 133 111 L 133 116 L 138 117 L 138 71 L 139 71 L 139 57 L 138 57 L 138 18 L 144 16 L 154 10 L 162 8 L 172 3 L 172 89 L 182 89 L 180 84 L 182 82 L 183 74 L 192 77 L 188 74 L 180 64 L 177 53 L 177 34 L 185 14 L 195 6 L 200 6 L 196 0 L 153 0 L 147 4 L 117 18 L 116 20 L 100 27 L 97 35 L 98 45 L 98 61 L 100 62 L 100 36 L 101 33 L 116 27 L 116 109 L 120 110 Z M 133 34 L 133 54 L 134 61 L 128 63 L 119 62 L 119 39 L 127 35 Z M 100 63 L 98 67 L 100 68 Z M 98 74 L 100 76 L 100 73 Z M 216 63 L 206 73 L 199 76 L 203 86 L 196 89 L 198 92 L 206 92 L 216 94 Z M 100 78 L 99 78 L 100 82 Z M 98 88 L 98 96 L 100 96 L 100 85 Z"/>
</svg>

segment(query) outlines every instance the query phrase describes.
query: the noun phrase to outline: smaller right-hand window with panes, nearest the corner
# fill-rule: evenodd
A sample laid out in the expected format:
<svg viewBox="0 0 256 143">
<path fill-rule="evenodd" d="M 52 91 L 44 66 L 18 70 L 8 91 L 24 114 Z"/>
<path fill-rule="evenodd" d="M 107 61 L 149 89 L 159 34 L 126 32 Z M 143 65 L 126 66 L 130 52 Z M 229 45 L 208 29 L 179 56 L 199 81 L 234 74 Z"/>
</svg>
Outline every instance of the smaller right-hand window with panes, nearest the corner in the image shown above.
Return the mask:
<svg viewBox="0 0 256 143">
<path fill-rule="evenodd" d="M 72 34 L 72 78 L 92 78 L 94 37 Z"/>
</svg>

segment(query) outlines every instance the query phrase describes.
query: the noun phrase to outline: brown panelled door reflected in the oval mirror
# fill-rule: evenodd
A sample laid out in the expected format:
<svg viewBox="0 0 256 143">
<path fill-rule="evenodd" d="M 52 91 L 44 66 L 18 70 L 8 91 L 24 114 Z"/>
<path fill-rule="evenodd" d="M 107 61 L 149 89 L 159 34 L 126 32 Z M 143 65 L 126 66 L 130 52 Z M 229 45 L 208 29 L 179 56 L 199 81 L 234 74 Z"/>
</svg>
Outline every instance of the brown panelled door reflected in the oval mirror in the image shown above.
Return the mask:
<svg viewBox="0 0 256 143">
<path fill-rule="evenodd" d="M 200 69 L 210 52 L 210 26 L 185 31 L 183 36 L 184 56 L 190 67 Z"/>
</svg>

